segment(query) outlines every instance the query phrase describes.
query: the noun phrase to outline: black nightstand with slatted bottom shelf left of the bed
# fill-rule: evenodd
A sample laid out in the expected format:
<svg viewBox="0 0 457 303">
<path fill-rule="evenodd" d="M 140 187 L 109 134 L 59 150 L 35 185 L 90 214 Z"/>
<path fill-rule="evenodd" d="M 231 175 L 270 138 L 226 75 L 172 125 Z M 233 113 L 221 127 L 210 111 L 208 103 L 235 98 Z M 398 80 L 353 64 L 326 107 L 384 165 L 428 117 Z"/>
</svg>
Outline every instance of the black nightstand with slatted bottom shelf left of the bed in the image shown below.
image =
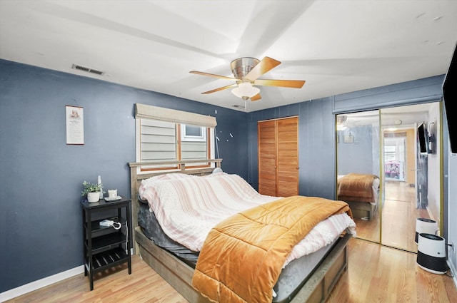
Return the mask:
<svg viewBox="0 0 457 303">
<path fill-rule="evenodd" d="M 122 196 L 121 196 L 122 197 Z M 84 275 L 89 274 L 91 290 L 94 289 L 94 274 L 106 269 L 129 263 L 131 274 L 131 200 L 122 197 L 119 201 L 99 202 L 81 201 L 83 210 L 83 239 L 84 239 Z M 125 208 L 124 215 L 122 210 Z M 117 210 L 117 215 L 105 216 L 95 212 Z M 98 215 L 98 216 L 97 216 Z M 96 219 L 94 219 L 96 218 Z M 114 227 L 101 226 L 103 220 L 121 223 L 119 230 Z M 115 225 L 119 227 L 119 225 Z"/>
</svg>

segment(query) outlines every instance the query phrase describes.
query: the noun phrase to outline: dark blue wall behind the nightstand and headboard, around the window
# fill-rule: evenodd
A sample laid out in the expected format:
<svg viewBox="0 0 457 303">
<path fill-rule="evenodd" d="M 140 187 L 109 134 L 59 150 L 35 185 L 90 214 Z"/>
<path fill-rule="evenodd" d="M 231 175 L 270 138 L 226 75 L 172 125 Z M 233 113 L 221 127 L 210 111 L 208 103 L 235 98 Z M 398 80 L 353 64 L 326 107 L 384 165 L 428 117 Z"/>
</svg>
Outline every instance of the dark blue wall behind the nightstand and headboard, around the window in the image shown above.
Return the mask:
<svg viewBox="0 0 457 303">
<path fill-rule="evenodd" d="M 83 264 L 81 183 L 130 196 L 134 103 L 216 116 L 222 168 L 247 178 L 246 113 L 0 60 L 0 292 Z M 66 105 L 84 145 L 66 145 Z"/>
</svg>

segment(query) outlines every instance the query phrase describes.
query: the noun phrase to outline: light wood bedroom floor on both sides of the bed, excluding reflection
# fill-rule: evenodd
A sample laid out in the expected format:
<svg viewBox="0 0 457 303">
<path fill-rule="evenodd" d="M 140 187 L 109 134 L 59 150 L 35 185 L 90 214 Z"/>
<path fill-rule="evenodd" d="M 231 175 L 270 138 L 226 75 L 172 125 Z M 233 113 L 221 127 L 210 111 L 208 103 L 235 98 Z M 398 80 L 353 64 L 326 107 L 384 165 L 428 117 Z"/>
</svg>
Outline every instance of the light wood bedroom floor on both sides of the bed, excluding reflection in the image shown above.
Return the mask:
<svg viewBox="0 0 457 303">
<path fill-rule="evenodd" d="M 12 299 L 13 302 L 166 302 L 184 303 L 138 255 L 126 266 L 100 274 L 89 290 L 89 279 L 79 274 L 43 289 Z M 416 265 L 416 254 L 353 238 L 349 241 L 349 266 L 326 303 L 457 302 L 451 277 L 432 274 Z"/>
</svg>

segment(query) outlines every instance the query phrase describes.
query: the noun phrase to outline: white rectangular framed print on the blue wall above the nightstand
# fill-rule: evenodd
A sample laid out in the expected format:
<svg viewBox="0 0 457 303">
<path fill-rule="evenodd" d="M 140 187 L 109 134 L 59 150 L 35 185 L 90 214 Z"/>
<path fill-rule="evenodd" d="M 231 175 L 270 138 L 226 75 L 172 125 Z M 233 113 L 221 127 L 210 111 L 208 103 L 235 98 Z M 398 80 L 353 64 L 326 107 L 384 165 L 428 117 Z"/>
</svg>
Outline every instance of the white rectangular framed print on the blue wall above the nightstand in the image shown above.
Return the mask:
<svg viewBox="0 0 457 303">
<path fill-rule="evenodd" d="M 65 106 L 66 144 L 84 144 L 84 110 L 79 106 Z"/>
</svg>

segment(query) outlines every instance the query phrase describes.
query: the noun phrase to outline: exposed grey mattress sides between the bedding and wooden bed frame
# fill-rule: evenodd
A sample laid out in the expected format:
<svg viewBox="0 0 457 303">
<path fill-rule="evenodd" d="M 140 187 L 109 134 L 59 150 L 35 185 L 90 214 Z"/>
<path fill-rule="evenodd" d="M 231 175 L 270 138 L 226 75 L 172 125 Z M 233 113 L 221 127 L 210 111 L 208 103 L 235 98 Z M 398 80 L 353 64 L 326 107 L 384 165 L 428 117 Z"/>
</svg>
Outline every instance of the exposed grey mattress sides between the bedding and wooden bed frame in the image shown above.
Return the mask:
<svg viewBox="0 0 457 303">
<path fill-rule="evenodd" d="M 199 252 L 191 251 L 165 235 L 154 216 L 154 212 L 149 211 L 149 206 L 147 204 L 140 203 L 138 222 L 144 235 L 151 239 L 156 245 L 176 255 L 176 257 L 179 257 L 179 259 L 186 262 L 189 266 L 195 267 Z M 298 289 L 303 286 L 308 276 L 318 267 L 337 241 L 338 238 L 333 240 L 331 245 L 326 245 L 326 247 L 323 247 L 312 254 L 304 255 L 303 257 L 289 262 L 288 265 L 282 269 L 278 282 L 273 287 L 275 293 L 273 302 L 290 302 L 291 298 L 296 294 Z"/>
</svg>

